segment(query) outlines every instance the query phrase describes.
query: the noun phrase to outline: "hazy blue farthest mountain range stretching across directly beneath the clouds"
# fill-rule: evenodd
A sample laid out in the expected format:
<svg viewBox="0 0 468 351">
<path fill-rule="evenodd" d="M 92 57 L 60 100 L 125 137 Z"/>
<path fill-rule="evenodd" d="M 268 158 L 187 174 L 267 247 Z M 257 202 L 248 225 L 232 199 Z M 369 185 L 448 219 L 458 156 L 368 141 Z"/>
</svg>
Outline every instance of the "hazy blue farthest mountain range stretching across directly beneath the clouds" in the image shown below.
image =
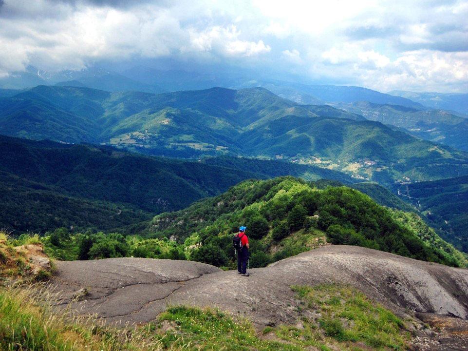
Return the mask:
<svg viewBox="0 0 468 351">
<path fill-rule="evenodd" d="M 15 72 L 8 77 L 0 78 L 0 88 L 24 89 L 37 85 L 68 85 L 88 87 L 93 89 L 117 91 L 141 91 L 147 93 L 162 93 L 182 90 L 204 90 L 214 86 L 231 89 L 264 87 L 273 93 L 302 104 L 323 105 L 326 102 L 357 102 L 369 101 L 378 104 L 401 105 L 415 109 L 437 108 L 458 111 L 453 104 L 468 106 L 465 96 L 456 94 L 436 94 L 437 99 L 453 103 L 446 107 L 434 105 L 434 98 L 418 98 L 416 93 L 393 91 L 389 94 L 380 93 L 358 86 L 337 86 L 303 84 L 278 79 L 252 78 L 247 72 L 223 72 L 212 70 L 203 72 L 187 72 L 182 70 L 162 70 L 144 65 L 113 71 L 103 67 L 90 67 L 81 71 L 63 71 L 49 73 L 35 67 L 28 67 L 26 72 Z M 453 95 L 453 96 L 452 96 Z M 450 96 L 450 97 L 449 97 Z M 414 97 L 414 98 L 412 98 Z M 464 102 L 461 102 L 461 101 Z M 427 103 L 425 103 L 427 101 Z M 423 106 L 424 105 L 424 106 Z M 426 106 L 426 107 L 425 107 Z M 466 112 L 465 112 L 466 113 Z"/>
</svg>

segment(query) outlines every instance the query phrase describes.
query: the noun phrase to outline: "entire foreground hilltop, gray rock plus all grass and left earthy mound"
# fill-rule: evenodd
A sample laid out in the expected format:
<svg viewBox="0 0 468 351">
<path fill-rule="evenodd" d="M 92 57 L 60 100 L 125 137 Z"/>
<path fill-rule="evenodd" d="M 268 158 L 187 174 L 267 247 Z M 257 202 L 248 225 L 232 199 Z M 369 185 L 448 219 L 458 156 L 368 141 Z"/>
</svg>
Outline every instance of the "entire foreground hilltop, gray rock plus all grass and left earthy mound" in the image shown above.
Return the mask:
<svg viewBox="0 0 468 351">
<path fill-rule="evenodd" d="M 467 346 L 466 270 L 337 245 L 252 269 L 245 278 L 177 260 L 52 264 L 40 244 L 13 248 L 12 242 L 0 239 L 6 258 L 0 272 L 13 277 L 12 269 L 3 271 L 6 262 L 17 279 L 0 290 L 1 348 L 13 343 L 31 350 L 40 345 L 93 351 Z M 16 250 L 19 258 L 13 259 Z M 25 263 L 15 264 L 22 257 Z M 48 270 L 53 266 L 52 274 L 40 266 L 45 273 L 30 275 L 39 262 Z M 29 277 L 51 280 L 22 285 Z"/>
</svg>

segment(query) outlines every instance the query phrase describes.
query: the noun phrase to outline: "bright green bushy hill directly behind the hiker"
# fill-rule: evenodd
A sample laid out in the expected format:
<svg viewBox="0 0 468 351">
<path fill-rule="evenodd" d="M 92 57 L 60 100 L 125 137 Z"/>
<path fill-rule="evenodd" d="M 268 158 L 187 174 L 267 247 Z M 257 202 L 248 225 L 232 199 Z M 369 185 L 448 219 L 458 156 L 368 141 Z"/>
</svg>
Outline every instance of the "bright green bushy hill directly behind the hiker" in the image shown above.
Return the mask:
<svg viewBox="0 0 468 351">
<path fill-rule="evenodd" d="M 320 190 L 313 182 L 292 177 L 244 181 L 187 209 L 155 216 L 142 234 L 185 243 L 193 260 L 229 266 L 231 236 L 240 223 L 247 226 L 252 240 L 253 267 L 326 241 L 467 266 L 466 257 L 417 215 L 385 208 L 347 187 Z M 192 249 L 197 243 L 201 247 Z"/>
</svg>

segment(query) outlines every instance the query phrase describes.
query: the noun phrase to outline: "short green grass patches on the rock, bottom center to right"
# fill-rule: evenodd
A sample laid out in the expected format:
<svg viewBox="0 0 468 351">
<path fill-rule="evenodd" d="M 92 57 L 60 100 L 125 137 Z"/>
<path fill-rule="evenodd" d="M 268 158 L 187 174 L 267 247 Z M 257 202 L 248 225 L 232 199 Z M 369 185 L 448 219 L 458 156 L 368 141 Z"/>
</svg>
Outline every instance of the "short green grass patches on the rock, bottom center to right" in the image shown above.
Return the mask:
<svg viewBox="0 0 468 351">
<path fill-rule="evenodd" d="M 187 350 L 405 350 L 409 333 L 392 312 L 350 287 L 294 286 L 301 323 L 258 333 L 245 319 L 218 310 L 169 307 L 148 330 L 164 331 L 165 347 Z M 307 318 L 309 312 L 316 319 Z M 187 346 L 188 345 L 188 346 Z M 365 347 L 363 346 L 365 345 Z M 314 349 L 315 350 L 315 349 Z"/>
</svg>

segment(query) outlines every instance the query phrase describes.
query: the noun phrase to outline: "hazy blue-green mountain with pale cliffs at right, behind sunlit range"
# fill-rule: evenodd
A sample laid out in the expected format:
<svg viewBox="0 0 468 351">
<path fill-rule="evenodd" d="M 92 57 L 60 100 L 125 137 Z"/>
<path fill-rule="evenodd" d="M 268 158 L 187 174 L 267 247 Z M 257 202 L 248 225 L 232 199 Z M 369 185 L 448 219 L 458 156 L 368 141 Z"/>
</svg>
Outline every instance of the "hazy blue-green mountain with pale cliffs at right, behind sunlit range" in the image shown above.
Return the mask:
<svg viewBox="0 0 468 351">
<path fill-rule="evenodd" d="M 370 120 L 404 128 L 413 136 L 468 151 L 468 119 L 455 116 L 449 111 L 421 111 L 404 106 L 379 105 L 363 101 L 332 105 Z"/>
</svg>

